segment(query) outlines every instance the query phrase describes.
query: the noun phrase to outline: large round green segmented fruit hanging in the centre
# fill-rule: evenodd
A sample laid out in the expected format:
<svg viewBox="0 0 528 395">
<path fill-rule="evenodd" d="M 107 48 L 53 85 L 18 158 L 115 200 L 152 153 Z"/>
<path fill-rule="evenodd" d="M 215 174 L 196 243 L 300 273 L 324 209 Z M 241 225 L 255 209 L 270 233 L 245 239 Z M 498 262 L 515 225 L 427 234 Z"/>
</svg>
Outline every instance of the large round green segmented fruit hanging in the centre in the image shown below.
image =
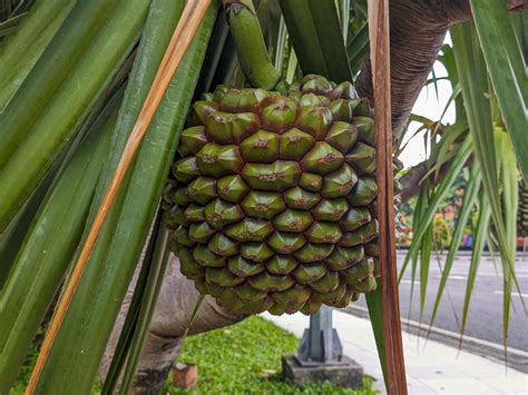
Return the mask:
<svg viewBox="0 0 528 395">
<path fill-rule="evenodd" d="M 245 314 L 314 314 L 374 289 L 368 100 L 315 75 L 286 93 L 218 86 L 203 97 L 163 192 L 182 273 Z"/>
</svg>

